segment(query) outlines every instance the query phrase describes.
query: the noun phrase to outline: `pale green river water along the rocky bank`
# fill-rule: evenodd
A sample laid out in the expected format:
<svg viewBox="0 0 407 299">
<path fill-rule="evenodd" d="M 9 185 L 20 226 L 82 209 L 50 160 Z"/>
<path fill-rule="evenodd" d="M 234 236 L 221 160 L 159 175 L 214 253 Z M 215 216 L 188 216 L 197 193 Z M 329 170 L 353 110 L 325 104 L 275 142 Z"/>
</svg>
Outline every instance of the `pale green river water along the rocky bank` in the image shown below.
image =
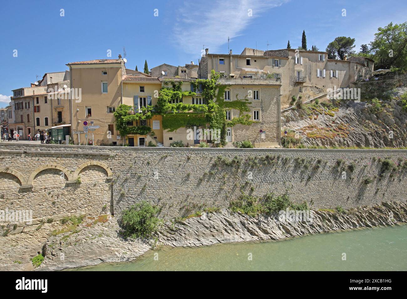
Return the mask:
<svg viewBox="0 0 407 299">
<path fill-rule="evenodd" d="M 251 253 L 252 260 L 249 260 Z M 342 260 L 346 253 L 346 260 Z M 158 260 L 157 260 L 158 258 Z M 407 271 L 407 225 L 277 242 L 225 243 L 149 251 L 135 262 L 74 271 Z"/>
</svg>

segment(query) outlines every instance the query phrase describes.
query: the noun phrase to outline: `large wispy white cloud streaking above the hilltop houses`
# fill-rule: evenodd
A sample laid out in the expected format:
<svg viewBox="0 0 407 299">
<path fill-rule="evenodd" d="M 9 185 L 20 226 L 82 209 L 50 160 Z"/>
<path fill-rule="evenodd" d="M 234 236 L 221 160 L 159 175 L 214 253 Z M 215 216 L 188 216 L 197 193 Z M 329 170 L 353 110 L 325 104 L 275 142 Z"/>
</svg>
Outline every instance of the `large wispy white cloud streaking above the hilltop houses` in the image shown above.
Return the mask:
<svg viewBox="0 0 407 299">
<path fill-rule="evenodd" d="M 201 56 L 203 45 L 211 53 L 242 34 L 256 17 L 288 0 L 214 0 L 184 2 L 178 9 L 174 41 L 188 54 Z M 251 13 L 250 11 L 251 10 Z"/>
</svg>

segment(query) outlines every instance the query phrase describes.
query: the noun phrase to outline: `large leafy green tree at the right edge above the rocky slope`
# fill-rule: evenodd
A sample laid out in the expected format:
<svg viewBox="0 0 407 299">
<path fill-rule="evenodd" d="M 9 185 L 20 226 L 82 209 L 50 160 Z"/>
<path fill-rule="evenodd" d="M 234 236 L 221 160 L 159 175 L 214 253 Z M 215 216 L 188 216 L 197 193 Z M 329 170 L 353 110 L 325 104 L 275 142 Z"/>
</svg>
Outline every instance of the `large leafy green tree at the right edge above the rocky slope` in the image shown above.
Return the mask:
<svg viewBox="0 0 407 299">
<path fill-rule="evenodd" d="M 370 43 L 376 69 L 407 70 L 407 22 L 379 27 Z"/>
</svg>

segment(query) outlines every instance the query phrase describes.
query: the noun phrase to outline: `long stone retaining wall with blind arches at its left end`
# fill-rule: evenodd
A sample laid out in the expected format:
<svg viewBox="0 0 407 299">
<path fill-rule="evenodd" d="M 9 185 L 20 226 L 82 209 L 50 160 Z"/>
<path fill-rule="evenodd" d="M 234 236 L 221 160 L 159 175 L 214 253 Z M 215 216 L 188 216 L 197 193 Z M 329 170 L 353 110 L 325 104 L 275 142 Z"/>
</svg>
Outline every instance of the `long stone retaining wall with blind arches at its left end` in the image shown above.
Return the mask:
<svg viewBox="0 0 407 299">
<path fill-rule="evenodd" d="M 218 156 L 223 162 L 214 166 Z M 235 156 L 242 159 L 240 167 L 225 165 L 225 158 Z M 120 214 L 146 200 L 171 218 L 227 207 L 241 192 L 263 196 L 286 190 L 293 201 L 313 208 L 405 201 L 407 168 L 380 175 L 379 158 L 387 157 L 403 164 L 407 151 L 0 144 L 0 210 L 33 210 L 33 218 L 59 219 L 71 213 Z M 338 159 L 346 164 L 338 167 Z"/>
</svg>

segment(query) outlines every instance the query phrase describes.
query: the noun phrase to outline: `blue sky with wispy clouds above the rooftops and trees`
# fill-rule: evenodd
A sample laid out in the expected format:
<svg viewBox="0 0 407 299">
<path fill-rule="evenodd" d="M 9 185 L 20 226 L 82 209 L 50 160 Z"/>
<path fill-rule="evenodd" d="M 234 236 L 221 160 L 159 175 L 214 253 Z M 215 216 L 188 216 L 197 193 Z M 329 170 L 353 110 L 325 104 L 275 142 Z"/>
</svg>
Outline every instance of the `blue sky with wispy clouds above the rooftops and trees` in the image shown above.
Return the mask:
<svg viewBox="0 0 407 299">
<path fill-rule="evenodd" d="M 122 4 L 124 3 L 124 4 Z M 4 1 L 0 4 L 0 107 L 11 90 L 29 86 L 66 63 L 127 52 L 126 67 L 198 62 L 210 53 L 240 53 L 301 45 L 324 50 L 337 36 L 368 44 L 379 26 L 407 20 L 407 1 L 206 0 L 206 1 Z M 65 16 L 60 16 L 64 9 Z M 154 10 L 158 9 L 158 16 Z M 252 10 L 249 16 L 248 10 Z M 346 9 L 346 17 L 342 16 Z M 18 57 L 13 57 L 18 50 Z"/>
</svg>

